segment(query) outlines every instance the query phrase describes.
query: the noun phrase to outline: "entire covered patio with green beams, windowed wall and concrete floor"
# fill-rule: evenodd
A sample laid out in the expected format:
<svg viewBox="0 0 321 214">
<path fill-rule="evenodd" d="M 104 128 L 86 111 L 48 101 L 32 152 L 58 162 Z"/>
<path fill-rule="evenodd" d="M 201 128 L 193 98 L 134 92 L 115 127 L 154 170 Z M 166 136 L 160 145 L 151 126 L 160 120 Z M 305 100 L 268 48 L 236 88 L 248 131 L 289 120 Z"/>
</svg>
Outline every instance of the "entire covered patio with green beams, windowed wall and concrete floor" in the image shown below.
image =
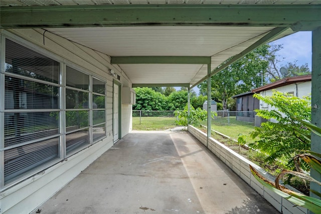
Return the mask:
<svg viewBox="0 0 321 214">
<path fill-rule="evenodd" d="M 107 208 L 113 212 L 126 201 L 124 208 L 137 212 L 254 211 L 258 201 L 253 201 L 260 197 L 190 134 L 158 133 L 155 139 L 155 133 L 130 133 L 132 88 L 185 86 L 190 91 L 206 80 L 210 103 L 211 76 L 260 45 L 298 31 L 312 31 L 311 122 L 321 126 L 319 0 L 2 0 L 0 4 L 2 213 L 28 213 L 70 181 L 73 191 L 79 191 L 70 194 L 84 197 L 64 198 L 69 196 L 67 186 L 58 194 L 63 197 L 56 199 L 64 208 L 76 202 L 68 206 L 75 212 L 80 211 L 77 206 L 88 212 L 105 209 L 106 203 L 96 201 L 100 194 L 111 201 Z M 232 168 L 238 164 L 233 171 L 251 183 L 248 164 L 242 163 L 241 171 L 240 161 L 221 155 L 212 144 L 210 129 L 205 136 L 193 135 L 201 136 L 202 144 L 224 163 Z M 321 153 L 319 142 L 312 135 L 311 150 Z M 159 148 L 166 150 L 158 153 Z M 311 175 L 321 180 L 317 173 Z M 141 179 L 138 185 L 137 179 Z M 120 181 L 124 188 L 116 185 Z M 174 185 L 169 188 L 169 183 Z M 311 188 L 320 191 L 317 185 Z M 99 195 L 89 197 L 94 189 Z M 142 198 L 123 200 L 129 196 Z M 56 199 L 43 209 L 56 212 L 58 205 L 50 205 L 58 204 Z M 279 200 L 271 201 L 282 210 Z"/>
</svg>

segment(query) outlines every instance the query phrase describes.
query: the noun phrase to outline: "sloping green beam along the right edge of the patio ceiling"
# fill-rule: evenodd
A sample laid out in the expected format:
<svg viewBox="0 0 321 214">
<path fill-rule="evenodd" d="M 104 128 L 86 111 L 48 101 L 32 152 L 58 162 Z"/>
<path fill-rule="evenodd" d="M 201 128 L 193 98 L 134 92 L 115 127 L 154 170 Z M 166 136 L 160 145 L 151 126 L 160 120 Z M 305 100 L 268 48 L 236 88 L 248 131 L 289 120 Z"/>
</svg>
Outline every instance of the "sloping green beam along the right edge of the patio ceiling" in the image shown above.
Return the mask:
<svg viewBox="0 0 321 214">
<path fill-rule="evenodd" d="M 219 66 L 217 66 L 210 74 L 206 75 L 201 80 L 199 80 L 197 83 L 192 85 L 191 88 L 193 88 L 196 85 L 200 84 L 201 82 L 205 81 L 207 78 L 213 76 L 214 74 L 220 72 L 221 70 L 223 70 L 224 68 L 228 67 L 233 62 L 239 60 L 240 58 L 242 58 L 243 56 L 245 56 L 246 54 L 248 54 L 249 52 L 251 52 L 255 48 L 259 47 L 260 45 L 263 45 L 263 44 L 267 43 L 268 41 L 270 41 L 271 39 L 273 39 L 274 37 L 276 37 L 277 35 L 279 35 L 283 31 L 285 31 L 286 29 L 287 28 L 284 28 L 284 27 L 274 28 L 272 31 L 270 31 L 268 34 L 263 36 L 261 39 L 259 39 L 255 43 L 253 43 L 251 46 L 246 48 L 244 51 L 242 51 L 241 53 L 239 53 L 239 54 L 237 54 L 235 56 L 232 56 L 228 61 L 225 61 L 222 64 L 220 64 Z"/>
</svg>

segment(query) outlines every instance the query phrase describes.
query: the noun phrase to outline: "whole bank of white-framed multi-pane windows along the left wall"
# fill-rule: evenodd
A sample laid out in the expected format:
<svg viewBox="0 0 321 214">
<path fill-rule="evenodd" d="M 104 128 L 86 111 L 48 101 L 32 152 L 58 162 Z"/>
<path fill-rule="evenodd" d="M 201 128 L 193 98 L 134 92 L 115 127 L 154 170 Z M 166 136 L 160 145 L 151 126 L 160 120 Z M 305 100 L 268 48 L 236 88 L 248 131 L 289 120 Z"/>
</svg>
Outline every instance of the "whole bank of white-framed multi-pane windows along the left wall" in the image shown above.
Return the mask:
<svg viewBox="0 0 321 214">
<path fill-rule="evenodd" d="M 3 41 L 0 189 L 106 137 L 105 81 L 10 39 Z"/>
</svg>

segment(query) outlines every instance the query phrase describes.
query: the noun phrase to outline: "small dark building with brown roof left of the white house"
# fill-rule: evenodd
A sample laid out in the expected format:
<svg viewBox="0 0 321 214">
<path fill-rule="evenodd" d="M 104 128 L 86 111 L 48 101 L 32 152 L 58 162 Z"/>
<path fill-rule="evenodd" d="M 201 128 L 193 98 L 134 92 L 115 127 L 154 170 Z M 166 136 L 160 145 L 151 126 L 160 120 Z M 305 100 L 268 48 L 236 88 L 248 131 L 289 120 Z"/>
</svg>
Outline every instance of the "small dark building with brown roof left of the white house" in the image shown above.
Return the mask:
<svg viewBox="0 0 321 214">
<path fill-rule="evenodd" d="M 259 109 L 259 100 L 253 97 L 253 92 L 248 91 L 232 96 L 236 98 L 236 120 L 254 122 L 255 109 Z"/>
</svg>

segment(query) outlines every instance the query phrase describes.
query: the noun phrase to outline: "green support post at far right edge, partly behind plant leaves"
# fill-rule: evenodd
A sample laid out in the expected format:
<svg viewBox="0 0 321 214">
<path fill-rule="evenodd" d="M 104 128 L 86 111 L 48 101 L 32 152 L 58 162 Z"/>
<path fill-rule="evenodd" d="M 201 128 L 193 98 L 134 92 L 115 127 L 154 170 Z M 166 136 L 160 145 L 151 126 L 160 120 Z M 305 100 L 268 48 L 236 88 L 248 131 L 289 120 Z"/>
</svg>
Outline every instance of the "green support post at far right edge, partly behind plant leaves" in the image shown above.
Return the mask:
<svg viewBox="0 0 321 214">
<path fill-rule="evenodd" d="M 312 31 L 311 123 L 321 127 L 321 27 Z M 311 151 L 321 153 L 321 137 L 311 133 Z M 321 181 L 321 175 L 311 169 L 311 176 Z M 310 188 L 321 192 L 321 186 L 310 182 Z M 310 196 L 319 198 L 310 192 Z"/>
</svg>

